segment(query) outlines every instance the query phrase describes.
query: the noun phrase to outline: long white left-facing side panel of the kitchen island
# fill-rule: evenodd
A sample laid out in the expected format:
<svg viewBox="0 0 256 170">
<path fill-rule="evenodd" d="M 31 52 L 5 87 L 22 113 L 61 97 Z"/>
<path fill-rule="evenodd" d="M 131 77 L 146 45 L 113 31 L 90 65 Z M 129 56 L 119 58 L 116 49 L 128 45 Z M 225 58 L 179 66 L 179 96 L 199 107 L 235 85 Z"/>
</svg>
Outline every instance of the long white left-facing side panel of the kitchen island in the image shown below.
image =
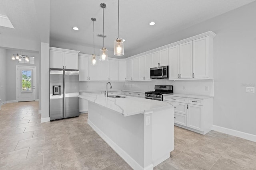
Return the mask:
<svg viewBox="0 0 256 170">
<path fill-rule="evenodd" d="M 120 113 L 106 109 L 100 105 L 88 102 L 88 124 L 115 150 L 117 145 L 124 152 L 118 154 L 136 169 L 152 168 L 151 161 L 144 161 L 144 117 L 137 114 L 124 117 Z M 152 135 L 152 134 L 148 134 Z M 150 137 L 152 139 L 152 136 Z M 130 157 L 129 157 L 130 156 Z M 136 163 L 134 163 L 134 160 Z M 143 167 L 143 168 L 142 168 Z M 146 168 L 147 169 L 147 168 Z"/>
</svg>

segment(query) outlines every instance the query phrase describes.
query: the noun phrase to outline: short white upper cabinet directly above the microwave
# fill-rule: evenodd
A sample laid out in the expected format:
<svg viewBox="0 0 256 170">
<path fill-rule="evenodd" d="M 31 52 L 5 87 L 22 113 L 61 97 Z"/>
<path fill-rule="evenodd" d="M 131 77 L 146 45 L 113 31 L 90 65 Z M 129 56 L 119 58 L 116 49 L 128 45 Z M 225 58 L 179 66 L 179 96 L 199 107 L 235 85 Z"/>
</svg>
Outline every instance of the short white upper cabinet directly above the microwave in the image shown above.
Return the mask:
<svg viewBox="0 0 256 170">
<path fill-rule="evenodd" d="M 169 61 L 168 49 L 162 49 L 160 51 L 151 53 L 151 56 L 152 56 L 152 61 L 151 61 L 152 67 L 168 65 L 168 61 Z"/>
</svg>

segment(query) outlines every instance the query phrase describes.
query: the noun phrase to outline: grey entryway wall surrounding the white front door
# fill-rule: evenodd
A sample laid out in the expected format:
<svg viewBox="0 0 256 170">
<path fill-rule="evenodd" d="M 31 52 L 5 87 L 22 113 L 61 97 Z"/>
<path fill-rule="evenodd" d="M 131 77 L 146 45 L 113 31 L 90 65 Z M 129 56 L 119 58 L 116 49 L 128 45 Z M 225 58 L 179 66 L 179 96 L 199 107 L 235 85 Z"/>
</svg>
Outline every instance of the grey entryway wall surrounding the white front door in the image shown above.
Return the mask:
<svg viewBox="0 0 256 170">
<path fill-rule="evenodd" d="M 32 51 L 22 51 L 23 55 L 28 55 L 31 57 L 35 57 L 35 64 L 26 64 L 26 63 L 19 63 L 18 60 L 11 60 L 11 57 L 13 54 L 20 54 L 20 51 L 18 50 L 6 50 L 6 93 L 7 95 L 7 101 L 16 100 L 16 65 L 20 66 L 36 66 L 36 97 L 39 96 L 39 54 L 38 51 L 32 52 Z"/>
</svg>

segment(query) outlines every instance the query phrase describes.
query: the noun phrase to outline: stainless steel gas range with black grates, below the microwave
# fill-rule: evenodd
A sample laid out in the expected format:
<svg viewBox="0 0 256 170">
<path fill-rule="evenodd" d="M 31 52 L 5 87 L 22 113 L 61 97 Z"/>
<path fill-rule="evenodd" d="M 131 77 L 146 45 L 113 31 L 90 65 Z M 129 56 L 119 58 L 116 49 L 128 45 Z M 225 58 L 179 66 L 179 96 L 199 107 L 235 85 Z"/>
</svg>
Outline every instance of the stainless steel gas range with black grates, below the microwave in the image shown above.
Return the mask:
<svg viewBox="0 0 256 170">
<path fill-rule="evenodd" d="M 173 93 L 172 85 L 155 85 L 155 91 L 146 92 L 145 99 L 163 101 L 163 94 Z"/>
</svg>

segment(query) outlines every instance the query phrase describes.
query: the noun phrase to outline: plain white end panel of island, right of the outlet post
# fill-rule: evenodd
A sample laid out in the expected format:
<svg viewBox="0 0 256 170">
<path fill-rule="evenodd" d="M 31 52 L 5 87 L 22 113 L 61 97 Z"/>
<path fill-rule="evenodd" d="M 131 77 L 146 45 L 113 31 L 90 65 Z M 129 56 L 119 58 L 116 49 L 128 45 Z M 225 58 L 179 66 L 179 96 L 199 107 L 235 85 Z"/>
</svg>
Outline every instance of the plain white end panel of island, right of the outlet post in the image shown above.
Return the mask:
<svg viewBox="0 0 256 170">
<path fill-rule="evenodd" d="M 152 113 L 152 163 L 160 164 L 174 150 L 174 107 Z"/>
</svg>

